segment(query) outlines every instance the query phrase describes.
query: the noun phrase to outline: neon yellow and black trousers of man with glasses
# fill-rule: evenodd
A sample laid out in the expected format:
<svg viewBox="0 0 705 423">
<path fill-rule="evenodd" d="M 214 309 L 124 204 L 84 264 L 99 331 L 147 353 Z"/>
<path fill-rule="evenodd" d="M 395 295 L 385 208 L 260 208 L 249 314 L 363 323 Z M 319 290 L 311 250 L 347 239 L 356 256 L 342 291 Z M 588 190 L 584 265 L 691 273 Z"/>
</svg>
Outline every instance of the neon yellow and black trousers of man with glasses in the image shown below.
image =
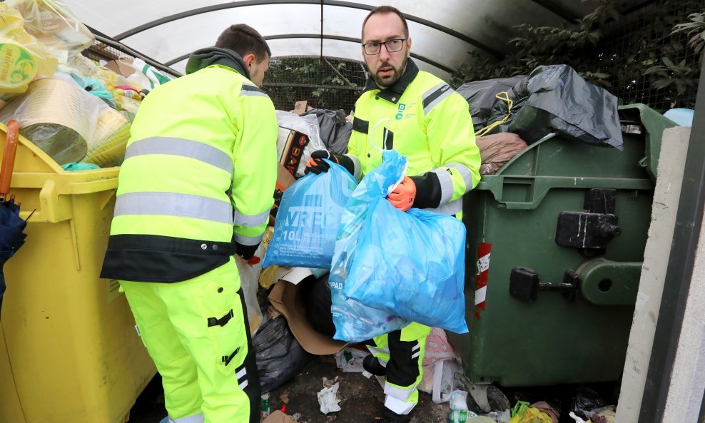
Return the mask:
<svg viewBox="0 0 705 423">
<path fill-rule="evenodd" d="M 375 337 L 375 345 L 367 345 L 387 368 L 385 407 L 396 414 L 409 414 L 419 402 L 416 387 L 423 377 L 422 362 L 430 332 L 428 326 L 410 323 L 400 330 Z"/>
</svg>

